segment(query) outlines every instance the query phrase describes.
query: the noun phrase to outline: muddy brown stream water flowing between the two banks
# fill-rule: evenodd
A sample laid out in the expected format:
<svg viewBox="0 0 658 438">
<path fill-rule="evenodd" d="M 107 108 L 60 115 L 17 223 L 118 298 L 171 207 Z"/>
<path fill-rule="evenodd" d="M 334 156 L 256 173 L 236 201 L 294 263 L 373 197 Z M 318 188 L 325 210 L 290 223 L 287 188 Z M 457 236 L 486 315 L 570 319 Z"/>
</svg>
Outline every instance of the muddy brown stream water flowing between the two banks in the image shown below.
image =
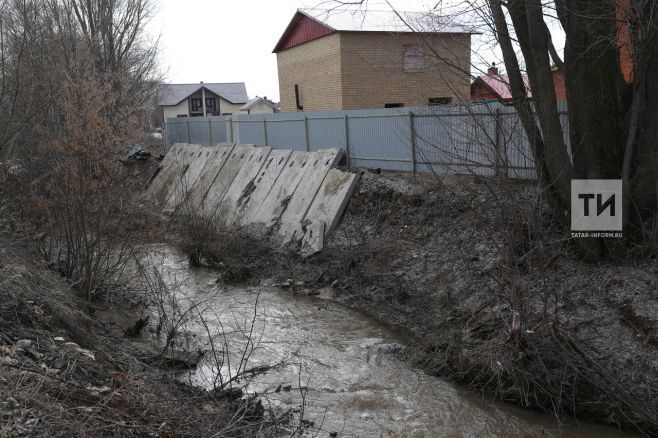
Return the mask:
<svg viewBox="0 0 658 438">
<path fill-rule="evenodd" d="M 283 365 L 257 377 L 248 391 L 267 394 L 266 406 L 278 413 L 295 410 L 298 419 L 298 388 L 307 387 L 304 418 L 314 424 L 309 435 L 625 436 L 574 421 L 559 425 L 548 415 L 484 401 L 380 351 L 382 342 L 404 343 L 404 336 L 360 313 L 273 288 L 220 288 L 211 271 L 190 270 L 184 257 L 168 251 L 162 255 L 165 278 L 176 282 L 184 300 L 204 301 L 199 309 L 206 324 L 188 326 L 192 338 L 207 349 L 203 340 L 210 333 L 218 354 L 230 351 L 222 378 L 235 371 L 251 338 L 248 368 Z M 188 378 L 211 388 L 218 379 L 214 363 L 207 354 Z"/>
</svg>

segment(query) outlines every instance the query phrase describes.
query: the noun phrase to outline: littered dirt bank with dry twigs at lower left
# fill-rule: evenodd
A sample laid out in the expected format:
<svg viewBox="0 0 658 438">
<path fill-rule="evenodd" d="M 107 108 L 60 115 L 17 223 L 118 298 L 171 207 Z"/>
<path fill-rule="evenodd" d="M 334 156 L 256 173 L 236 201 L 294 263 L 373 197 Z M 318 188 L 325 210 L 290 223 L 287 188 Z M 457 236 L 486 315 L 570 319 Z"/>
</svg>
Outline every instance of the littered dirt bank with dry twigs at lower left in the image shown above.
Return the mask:
<svg viewBox="0 0 658 438">
<path fill-rule="evenodd" d="M 0 233 L 0 437 L 244 436 L 264 427 L 258 403 L 181 384 L 151 341 L 126 336 L 143 308 L 130 294 L 86 302 L 18 235 Z"/>
</svg>

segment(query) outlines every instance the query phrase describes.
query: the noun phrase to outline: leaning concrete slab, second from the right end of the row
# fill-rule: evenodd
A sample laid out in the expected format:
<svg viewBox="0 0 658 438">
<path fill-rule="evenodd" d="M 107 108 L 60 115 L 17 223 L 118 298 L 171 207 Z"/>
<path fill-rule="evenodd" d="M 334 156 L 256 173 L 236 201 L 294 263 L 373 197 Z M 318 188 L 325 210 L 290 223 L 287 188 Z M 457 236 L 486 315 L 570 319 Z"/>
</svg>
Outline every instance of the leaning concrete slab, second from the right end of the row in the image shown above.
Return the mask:
<svg viewBox="0 0 658 438">
<path fill-rule="evenodd" d="M 287 208 L 281 215 L 282 224 L 301 223 L 315 198 L 315 194 L 320 189 L 327 172 L 338 164 L 341 155 L 342 152 L 340 149 L 326 149 L 317 151 L 316 156 L 308 160 L 304 176 L 302 177 L 304 183 L 297 187 Z"/>
</svg>

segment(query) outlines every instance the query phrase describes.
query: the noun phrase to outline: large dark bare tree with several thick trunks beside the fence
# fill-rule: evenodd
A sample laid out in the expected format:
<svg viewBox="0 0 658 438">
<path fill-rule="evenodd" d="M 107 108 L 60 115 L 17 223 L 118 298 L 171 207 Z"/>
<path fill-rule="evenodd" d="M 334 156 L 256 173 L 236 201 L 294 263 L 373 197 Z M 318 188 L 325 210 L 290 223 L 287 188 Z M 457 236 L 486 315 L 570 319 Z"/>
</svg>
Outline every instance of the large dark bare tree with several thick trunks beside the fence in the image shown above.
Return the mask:
<svg viewBox="0 0 658 438">
<path fill-rule="evenodd" d="M 367 0 L 321 4 L 330 4 L 332 12 L 368 6 Z M 562 207 L 569 208 L 574 178 L 622 179 L 624 237 L 630 244 L 641 239 L 658 199 L 658 140 L 652 131 L 658 118 L 658 86 L 652 80 L 658 73 L 655 2 L 440 0 L 433 12 L 477 23 L 479 32 L 497 42 L 539 180 Z M 556 25 L 565 34 L 564 60 L 550 30 Z M 571 155 L 557 110 L 554 66 L 565 74 Z M 613 251 L 602 239 L 579 239 L 578 244 L 590 260 Z"/>
</svg>

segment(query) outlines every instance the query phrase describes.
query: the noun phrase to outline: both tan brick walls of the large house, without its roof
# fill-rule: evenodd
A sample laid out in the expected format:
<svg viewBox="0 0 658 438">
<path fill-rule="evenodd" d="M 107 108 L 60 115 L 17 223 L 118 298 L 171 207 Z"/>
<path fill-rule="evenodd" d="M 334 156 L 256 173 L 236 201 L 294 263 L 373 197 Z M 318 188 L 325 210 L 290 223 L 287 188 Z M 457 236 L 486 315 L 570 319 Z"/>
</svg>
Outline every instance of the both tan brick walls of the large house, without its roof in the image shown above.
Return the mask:
<svg viewBox="0 0 658 438">
<path fill-rule="evenodd" d="M 297 111 L 295 84 L 304 111 L 384 108 L 387 103 L 424 106 L 430 98 L 467 102 L 470 36 L 425 37 L 434 50 L 418 38 L 340 32 L 277 53 L 281 110 Z M 422 50 L 421 71 L 405 72 L 410 47 Z"/>
</svg>

